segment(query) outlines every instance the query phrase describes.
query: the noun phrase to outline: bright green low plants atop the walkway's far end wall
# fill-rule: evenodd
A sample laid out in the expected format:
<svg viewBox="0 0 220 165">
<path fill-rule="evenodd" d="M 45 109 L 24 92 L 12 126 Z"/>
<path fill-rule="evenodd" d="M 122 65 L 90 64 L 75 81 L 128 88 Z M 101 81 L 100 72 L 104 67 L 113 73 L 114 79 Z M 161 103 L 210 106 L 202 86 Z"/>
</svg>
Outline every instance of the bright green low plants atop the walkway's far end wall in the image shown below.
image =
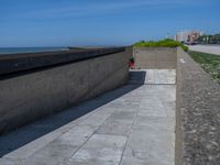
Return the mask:
<svg viewBox="0 0 220 165">
<path fill-rule="evenodd" d="M 185 46 L 184 44 L 174 41 L 174 40 L 161 40 L 157 42 L 154 41 L 148 41 L 148 42 L 138 42 L 133 45 L 134 47 L 178 47 L 180 46 L 184 51 L 188 51 L 188 47 Z"/>
</svg>

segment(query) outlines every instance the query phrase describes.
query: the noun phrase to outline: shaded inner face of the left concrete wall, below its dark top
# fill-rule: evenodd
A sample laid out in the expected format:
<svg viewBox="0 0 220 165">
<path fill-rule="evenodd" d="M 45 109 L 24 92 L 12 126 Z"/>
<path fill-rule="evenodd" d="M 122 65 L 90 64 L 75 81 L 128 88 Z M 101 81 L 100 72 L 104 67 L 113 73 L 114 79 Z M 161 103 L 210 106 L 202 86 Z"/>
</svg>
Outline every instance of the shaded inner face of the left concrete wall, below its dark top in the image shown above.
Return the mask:
<svg viewBox="0 0 220 165">
<path fill-rule="evenodd" d="M 127 82 L 131 50 L 0 80 L 0 133 Z"/>
</svg>

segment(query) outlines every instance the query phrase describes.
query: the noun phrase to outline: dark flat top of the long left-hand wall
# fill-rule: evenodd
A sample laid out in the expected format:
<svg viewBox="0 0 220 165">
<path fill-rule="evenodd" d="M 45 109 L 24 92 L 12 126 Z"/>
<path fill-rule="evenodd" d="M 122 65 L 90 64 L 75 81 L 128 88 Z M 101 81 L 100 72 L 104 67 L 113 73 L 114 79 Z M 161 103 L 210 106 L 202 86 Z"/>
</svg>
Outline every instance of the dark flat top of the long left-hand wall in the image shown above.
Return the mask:
<svg viewBox="0 0 220 165">
<path fill-rule="evenodd" d="M 124 52 L 125 47 L 6 54 L 0 56 L 0 79 L 34 73 L 54 66 Z"/>
</svg>

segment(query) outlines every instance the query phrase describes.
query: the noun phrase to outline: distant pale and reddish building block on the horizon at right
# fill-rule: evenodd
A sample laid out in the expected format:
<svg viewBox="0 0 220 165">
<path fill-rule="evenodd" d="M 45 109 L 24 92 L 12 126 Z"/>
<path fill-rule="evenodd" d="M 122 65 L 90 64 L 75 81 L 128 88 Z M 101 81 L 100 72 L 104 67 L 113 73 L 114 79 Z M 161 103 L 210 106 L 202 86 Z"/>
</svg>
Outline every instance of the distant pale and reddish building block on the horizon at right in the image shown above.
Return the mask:
<svg viewBox="0 0 220 165">
<path fill-rule="evenodd" d="M 201 35 L 204 35 L 204 33 L 199 31 L 180 31 L 176 34 L 176 41 L 191 44 Z"/>
</svg>

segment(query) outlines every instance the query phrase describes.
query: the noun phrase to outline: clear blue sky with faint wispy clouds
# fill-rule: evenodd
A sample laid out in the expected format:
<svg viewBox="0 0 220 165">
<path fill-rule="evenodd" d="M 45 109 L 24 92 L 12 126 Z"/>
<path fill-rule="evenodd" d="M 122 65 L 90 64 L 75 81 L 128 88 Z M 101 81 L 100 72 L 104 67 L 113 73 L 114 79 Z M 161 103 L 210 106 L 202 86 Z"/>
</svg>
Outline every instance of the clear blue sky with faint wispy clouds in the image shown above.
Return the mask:
<svg viewBox="0 0 220 165">
<path fill-rule="evenodd" d="M 220 0 L 0 0 L 0 47 L 121 46 L 220 33 Z"/>
</svg>

